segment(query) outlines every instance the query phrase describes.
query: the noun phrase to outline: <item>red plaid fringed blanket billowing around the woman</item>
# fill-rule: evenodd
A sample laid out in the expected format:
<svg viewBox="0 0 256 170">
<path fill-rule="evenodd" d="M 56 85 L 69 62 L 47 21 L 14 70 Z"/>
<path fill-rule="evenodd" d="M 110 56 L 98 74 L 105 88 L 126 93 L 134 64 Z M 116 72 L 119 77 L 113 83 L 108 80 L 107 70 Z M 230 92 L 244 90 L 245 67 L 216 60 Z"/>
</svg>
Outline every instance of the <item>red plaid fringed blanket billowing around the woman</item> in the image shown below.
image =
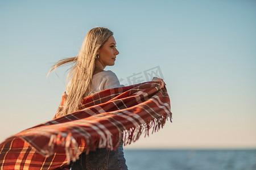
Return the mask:
<svg viewBox="0 0 256 170">
<path fill-rule="evenodd" d="M 159 82 L 112 88 L 82 99 L 79 111 L 60 117 L 65 92 L 53 120 L 7 138 L 0 144 L 1 169 L 63 169 L 82 152 L 115 150 L 163 128 L 171 120 L 170 99 Z"/>
</svg>

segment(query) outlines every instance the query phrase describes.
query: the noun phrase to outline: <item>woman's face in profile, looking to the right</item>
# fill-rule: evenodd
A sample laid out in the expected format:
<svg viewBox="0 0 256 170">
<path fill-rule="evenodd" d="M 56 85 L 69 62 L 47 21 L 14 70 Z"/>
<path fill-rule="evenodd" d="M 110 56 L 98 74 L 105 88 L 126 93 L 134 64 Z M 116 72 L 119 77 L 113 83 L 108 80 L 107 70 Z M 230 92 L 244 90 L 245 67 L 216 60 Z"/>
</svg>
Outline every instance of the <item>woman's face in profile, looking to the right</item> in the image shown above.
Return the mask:
<svg viewBox="0 0 256 170">
<path fill-rule="evenodd" d="M 115 39 L 110 36 L 108 41 L 98 49 L 98 60 L 102 66 L 113 66 L 115 64 L 115 58 L 119 54 L 118 50 L 115 48 Z"/>
</svg>

